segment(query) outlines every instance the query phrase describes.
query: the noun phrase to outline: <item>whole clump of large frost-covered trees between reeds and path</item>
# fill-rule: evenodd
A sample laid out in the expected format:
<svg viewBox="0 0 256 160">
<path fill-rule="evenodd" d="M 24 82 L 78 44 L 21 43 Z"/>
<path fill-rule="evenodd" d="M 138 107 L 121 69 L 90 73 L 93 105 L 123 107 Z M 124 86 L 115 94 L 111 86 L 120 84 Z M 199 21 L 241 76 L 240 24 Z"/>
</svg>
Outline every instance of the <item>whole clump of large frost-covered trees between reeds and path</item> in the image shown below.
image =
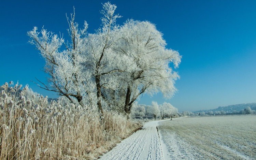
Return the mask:
<svg viewBox="0 0 256 160">
<path fill-rule="evenodd" d="M 49 75 L 44 89 L 75 98 L 80 105 L 97 106 L 103 115 L 103 106 L 129 114 L 132 104 L 143 93 L 161 92 L 165 98 L 173 96 L 174 82 L 181 62 L 178 52 L 167 49 L 155 25 L 148 21 L 127 20 L 116 24 L 120 16 L 116 6 L 103 4 L 102 25 L 95 33 L 87 33 L 75 23 L 75 14 L 69 22 L 70 42 L 65 42 L 45 29 L 41 35 L 35 27 L 28 32 L 46 61 L 44 71 Z M 62 45 L 66 49 L 61 50 Z M 39 81 L 40 82 L 40 81 Z M 73 98 L 72 98 L 73 97 Z"/>
</svg>

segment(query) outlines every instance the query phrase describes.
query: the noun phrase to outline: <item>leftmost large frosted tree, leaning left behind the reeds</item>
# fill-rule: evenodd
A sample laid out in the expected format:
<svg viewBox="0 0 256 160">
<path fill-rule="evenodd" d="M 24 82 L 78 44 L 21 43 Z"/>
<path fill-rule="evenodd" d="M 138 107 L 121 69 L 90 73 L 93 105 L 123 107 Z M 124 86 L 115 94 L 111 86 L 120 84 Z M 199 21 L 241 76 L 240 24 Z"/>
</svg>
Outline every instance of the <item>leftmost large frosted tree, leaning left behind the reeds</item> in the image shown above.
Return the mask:
<svg viewBox="0 0 256 160">
<path fill-rule="evenodd" d="M 85 22 L 84 28 L 79 30 L 78 24 L 74 22 L 75 14 L 71 16 L 68 29 L 70 43 L 65 43 L 63 38 L 44 28 L 41 30 L 41 35 L 37 27 L 27 34 L 30 37 L 29 42 L 36 46 L 46 62 L 44 72 L 48 74 L 48 84 L 41 82 L 43 87 L 40 87 L 57 92 L 71 102 L 73 102 L 71 97 L 75 97 L 83 105 L 83 96 L 88 93 L 91 85 L 88 81 L 90 73 L 85 73 L 81 65 L 81 57 L 84 53 L 83 37 L 88 25 Z M 65 44 L 66 49 L 60 51 L 62 44 Z"/>
</svg>

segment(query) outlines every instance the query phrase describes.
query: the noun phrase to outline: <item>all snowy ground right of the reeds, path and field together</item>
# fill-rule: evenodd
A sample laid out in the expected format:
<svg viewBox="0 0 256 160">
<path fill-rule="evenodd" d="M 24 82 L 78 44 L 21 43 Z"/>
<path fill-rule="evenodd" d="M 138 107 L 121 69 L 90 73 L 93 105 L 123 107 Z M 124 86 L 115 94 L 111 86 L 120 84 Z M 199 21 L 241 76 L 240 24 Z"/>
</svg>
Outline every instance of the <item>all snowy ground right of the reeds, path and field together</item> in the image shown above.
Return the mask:
<svg viewBox="0 0 256 160">
<path fill-rule="evenodd" d="M 255 123 L 255 115 L 152 121 L 100 159 L 255 160 Z"/>
</svg>

